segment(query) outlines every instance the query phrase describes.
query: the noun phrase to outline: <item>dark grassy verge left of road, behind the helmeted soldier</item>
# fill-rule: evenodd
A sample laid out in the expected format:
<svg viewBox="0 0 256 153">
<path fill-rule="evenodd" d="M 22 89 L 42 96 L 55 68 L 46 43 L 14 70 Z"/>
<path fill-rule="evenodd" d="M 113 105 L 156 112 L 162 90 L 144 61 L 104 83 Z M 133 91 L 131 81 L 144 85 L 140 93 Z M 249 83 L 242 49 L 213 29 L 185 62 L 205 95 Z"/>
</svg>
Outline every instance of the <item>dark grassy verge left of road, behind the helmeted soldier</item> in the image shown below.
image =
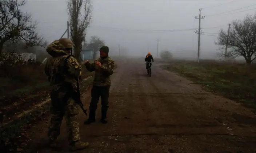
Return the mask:
<svg viewBox="0 0 256 153">
<path fill-rule="evenodd" d="M 35 65 L 25 65 L 25 67 L 35 67 Z M 24 68 L 24 67 L 23 67 Z M 20 78 L 0 78 L 0 86 L 5 86 L 0 91 L 0 123 L 6 123 L 13 119 L 13 116 L 20 114 L 29 107 L 33 107 L 49 97 L 50 85 L 47 76 L 43 72 L 44 65 L 37 66 L 38 71 L 28 71 L 31 77 L 27 81 L 20 81 Z M 34 75 L 32 75 L 34 73 Z M 87 71 L 83 66 L 82 79 L 92 76 L 94 73 Z M 23 74 L 20 74 L 21 76 Z M 1 84 L 3 83 L 3 84 Z M 7 83 L 8 85 L 8 83 Z"/>
</svg>

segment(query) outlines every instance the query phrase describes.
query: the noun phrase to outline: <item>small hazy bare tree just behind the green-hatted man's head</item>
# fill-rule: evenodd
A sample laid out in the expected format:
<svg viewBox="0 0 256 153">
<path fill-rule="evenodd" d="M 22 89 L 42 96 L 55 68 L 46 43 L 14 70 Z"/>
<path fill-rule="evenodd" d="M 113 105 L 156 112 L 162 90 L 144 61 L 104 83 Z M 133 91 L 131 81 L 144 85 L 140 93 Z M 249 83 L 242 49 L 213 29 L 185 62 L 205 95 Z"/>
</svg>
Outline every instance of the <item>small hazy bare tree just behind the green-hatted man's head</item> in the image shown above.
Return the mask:
<svg viewBox="0 0 256 153">
<path fill-rule="evenodd" d="M 90 43 L 88 44 L 88 48 L 92 49 L 92 58 L 96 59 L 97 51 L 99 51 L 100 47 L 105 45 L 104 39 L 100 39 L 97 36 L 92 36 Z"/>
</svg>

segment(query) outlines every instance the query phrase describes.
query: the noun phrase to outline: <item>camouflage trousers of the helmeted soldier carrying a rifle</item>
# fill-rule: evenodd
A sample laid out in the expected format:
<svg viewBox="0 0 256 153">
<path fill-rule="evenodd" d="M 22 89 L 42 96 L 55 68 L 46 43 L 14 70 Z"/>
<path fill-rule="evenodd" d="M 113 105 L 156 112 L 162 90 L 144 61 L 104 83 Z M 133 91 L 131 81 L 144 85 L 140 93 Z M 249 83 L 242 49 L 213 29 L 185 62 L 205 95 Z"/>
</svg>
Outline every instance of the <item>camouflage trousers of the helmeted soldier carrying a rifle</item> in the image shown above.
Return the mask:
<svg viewBox="0 0 256 153">
<path fill-rule="evenodd" d="M 68 99 L 65 105 L 60 104 L 59 98 L 52 97 L 51 101 L 51 125 L 49 126 L 48 137 L 51 140 L 57 139 L 60 135 L 60 126 L 65 116 L 69 143 L 79 141 L 79 105 L 73 99 Z M 58 107 L 58 105 L 60 107 Z M 62 105 L 62 106 L 61 106 Z"/>
</svg>

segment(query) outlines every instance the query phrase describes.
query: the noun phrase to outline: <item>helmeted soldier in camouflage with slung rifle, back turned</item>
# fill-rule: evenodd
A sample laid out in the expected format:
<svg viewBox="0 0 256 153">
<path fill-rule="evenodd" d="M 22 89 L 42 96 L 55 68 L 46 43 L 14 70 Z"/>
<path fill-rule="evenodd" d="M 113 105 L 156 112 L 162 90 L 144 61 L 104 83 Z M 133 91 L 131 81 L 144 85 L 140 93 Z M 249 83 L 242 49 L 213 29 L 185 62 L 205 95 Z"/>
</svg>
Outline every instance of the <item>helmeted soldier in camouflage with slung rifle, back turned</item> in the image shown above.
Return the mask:
<svg viewBox="0 0 256 153">
<path fill-rule="evenodd" d="M 81 76 L 81 65 L 69 54 L 72 54 L 72 41 L 61 38 L 47 47 L 52 57 L 47 60 L 45 74 L 51 84 L 51 125 L 48 138 L 51 147 L 56 146 L 55 140 L 60 135 L 60 125 L 65 116 L 69 132 L 71 151 L 87 148 L 89 143 L 80 141 L 79 136 L 79 104 L 71 95 L 77 92 L 77 78 Z"/>
</svg>

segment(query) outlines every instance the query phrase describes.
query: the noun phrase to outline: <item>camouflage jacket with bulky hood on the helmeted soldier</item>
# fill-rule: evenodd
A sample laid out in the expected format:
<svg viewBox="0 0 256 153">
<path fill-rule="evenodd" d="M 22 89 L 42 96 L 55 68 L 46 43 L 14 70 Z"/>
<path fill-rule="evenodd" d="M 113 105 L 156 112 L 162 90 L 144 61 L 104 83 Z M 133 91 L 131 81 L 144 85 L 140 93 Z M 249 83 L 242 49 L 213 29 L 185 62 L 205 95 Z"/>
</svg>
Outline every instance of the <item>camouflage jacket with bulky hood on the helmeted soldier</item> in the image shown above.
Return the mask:
<svg viewBox="0 0 256 153">
<path fill-rule="evenodd" d="M 65 85 L 68 83 L 77 91 L 76 78 L 81 76 L 82 73 L 82 67 L 78 61 L 73 56 L 69 57 L 68 61 L 64 61 L 68 54 L 58 41 L 49 44 L 47 52 L 52 55 L 52 57 L 46 62 L 45 74 L 48 76 L 52 90 L 58 91 L 61 89 L 65 93 L 67 90 L 65 89 Z M 64 62 L 67 62 L 65 69 L 63 69 Z"/>
</svg>

